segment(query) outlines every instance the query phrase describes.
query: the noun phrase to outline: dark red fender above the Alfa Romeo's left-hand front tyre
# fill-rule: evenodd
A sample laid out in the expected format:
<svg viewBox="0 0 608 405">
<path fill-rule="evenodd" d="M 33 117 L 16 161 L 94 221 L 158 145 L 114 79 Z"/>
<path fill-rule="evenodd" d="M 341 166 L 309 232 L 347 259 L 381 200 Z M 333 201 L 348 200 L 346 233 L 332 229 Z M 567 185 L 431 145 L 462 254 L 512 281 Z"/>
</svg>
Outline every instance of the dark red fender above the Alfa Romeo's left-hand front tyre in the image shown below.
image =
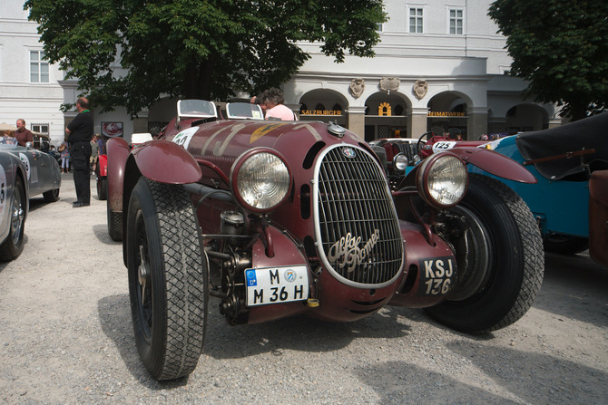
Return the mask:
<svg viewBox="0 0 608 405">
<path fill-rule="evenodd" d="M 180 145 L 169 140 L 151 140 L 133 149 L 137 168 L 145 178 L 168 184 L 199 181 L 202 171 L 196 159 Z"/>
</svg>

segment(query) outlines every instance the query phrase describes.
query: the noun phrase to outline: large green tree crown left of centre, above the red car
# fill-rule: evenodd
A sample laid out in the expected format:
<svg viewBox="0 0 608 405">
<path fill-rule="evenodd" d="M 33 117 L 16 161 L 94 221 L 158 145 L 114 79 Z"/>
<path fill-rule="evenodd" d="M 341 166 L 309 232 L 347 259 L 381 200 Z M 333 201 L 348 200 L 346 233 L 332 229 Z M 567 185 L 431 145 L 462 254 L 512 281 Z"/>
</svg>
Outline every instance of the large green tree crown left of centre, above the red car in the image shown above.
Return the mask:
<svg viewBox="0 0 608 405">
<path fill-rule="evenodd" d="M 50 63 L 102 111 L 162 96 L 226 100 L 287 82 L 309 59 L 373 56 L 381 0 L 27 0 Z"/>
</svg>

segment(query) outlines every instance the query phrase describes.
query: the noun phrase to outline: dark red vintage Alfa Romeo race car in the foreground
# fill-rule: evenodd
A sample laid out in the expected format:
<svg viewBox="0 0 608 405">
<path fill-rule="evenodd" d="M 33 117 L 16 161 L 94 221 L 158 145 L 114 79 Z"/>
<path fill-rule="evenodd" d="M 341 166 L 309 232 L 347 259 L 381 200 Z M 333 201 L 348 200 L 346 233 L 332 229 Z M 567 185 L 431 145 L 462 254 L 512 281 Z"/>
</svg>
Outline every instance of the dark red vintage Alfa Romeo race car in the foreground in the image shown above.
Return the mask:
<svg viewBox="0 0 608 405">
<path fill-rule="evenodd" d="M 466 222 L 475 207 L 445 214 L 468 184 L 455 154 L 426 159 L 392 193 L 377 155 L 336 124 L 261 121 L 254 104 L 226 112 L 179 101 L 161 139 L 107 144 L 108 228 L 123 239 L 135 340 L 155 379 L 194 370 L 210 297 L 232 325 L 355 321 L 397 305 L 467 333 L 532 304 L 544 268 L 534 218 L 500 188 L 484 214 L 504 235 Z"/>
</svg>

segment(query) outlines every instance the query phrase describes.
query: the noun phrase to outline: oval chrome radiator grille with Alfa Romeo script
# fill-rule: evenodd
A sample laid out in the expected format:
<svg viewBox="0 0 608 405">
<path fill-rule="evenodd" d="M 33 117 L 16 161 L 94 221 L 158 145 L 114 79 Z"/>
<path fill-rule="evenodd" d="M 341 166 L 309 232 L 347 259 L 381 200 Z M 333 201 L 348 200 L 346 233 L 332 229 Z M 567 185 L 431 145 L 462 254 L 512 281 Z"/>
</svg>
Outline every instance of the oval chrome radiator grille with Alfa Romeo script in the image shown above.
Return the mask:
<svg viewBox="0 0 608 405">
<path fill-rule="evenodd" d="M 386 179 L 364 149 L 339 145 L 319 159 L 314 209 L 321 261 L 345 284 L 387 284 L 404 252 Z"/>
</svg>

